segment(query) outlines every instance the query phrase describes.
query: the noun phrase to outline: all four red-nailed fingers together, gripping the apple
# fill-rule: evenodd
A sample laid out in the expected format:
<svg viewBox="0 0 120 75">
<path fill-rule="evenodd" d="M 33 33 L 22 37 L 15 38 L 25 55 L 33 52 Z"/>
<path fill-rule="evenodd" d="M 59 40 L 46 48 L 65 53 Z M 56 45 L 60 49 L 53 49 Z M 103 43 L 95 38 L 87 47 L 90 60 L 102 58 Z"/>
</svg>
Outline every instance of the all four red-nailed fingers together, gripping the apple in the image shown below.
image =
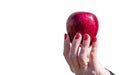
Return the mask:
<svg viewBox="0 0 120 75">
<path fill-rule="evenodd" d="M 83 36 L 83 43 L 79 52 L 81 40 L 82 35 L 77 33 L 73 39 L 73 42 L 70 43 L 69 36 L 65 34 L 63 54 L 72 72 L 76 73 L 76 71 L 80 71 L 81 74 L 84 74 L 85 70 L 87 70 L 89 62 L 93 66 L 96 64 L 98 44 L 97 40 L 94 38 L 91 52 L 89 52 L 90 36 L 85 34 Z"/>
</svg>

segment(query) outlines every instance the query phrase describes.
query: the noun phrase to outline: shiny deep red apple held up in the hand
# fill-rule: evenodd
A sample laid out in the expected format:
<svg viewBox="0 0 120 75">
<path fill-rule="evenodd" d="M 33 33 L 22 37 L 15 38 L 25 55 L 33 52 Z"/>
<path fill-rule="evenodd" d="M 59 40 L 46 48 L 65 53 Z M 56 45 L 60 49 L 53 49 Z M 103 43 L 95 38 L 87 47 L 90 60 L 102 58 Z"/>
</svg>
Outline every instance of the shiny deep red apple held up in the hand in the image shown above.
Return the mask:
<svg viewBox="0 0 120 75">
<path fill-rule="evenodd" d="M 77 32 L 81 33 L 82 37 L 87 33 L 90 35 L 91 45 L 98 32 L 98 19 L 90 12 L 75 12 L 68 17 L 66 29 L 71 42 Z"/>
</svg>

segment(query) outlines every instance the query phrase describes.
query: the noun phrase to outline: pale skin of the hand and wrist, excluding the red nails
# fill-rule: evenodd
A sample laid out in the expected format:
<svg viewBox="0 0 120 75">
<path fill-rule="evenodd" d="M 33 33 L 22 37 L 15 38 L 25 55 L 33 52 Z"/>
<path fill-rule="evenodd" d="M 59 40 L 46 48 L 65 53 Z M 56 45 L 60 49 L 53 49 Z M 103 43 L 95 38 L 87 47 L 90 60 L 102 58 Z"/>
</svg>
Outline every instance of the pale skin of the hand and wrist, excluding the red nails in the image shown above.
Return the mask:
<svg viewBox="0 0 120 75">
<path fill-rule="evenodd" d="M 78 35 L 79 37 L 76 39 L 75 37 Z M 82 39 L 80 33 L 75 35 L 72 43 L 66 34 L 63 55 L 71 71 L 75 75 L 110 75 L 109 71 L 97 60 L 98 41 L 93 41 L 92 45 L 89 46 L 90 36 L 86 35 L 88 38 L 83 40 L 82 45 L 80 45 Z"/>
</svg>

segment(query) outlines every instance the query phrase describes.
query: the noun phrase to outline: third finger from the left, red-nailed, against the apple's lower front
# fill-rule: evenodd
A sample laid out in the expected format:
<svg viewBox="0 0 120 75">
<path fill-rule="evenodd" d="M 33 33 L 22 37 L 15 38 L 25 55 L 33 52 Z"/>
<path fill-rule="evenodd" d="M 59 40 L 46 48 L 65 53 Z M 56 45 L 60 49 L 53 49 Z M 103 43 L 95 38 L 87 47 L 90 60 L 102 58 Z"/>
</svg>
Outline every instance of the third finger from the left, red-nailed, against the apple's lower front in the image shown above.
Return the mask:
<svg viewBox="0 0 120 75">
<path fill-rule="evenodd" d="M 85 34 L 83 36 L 83 43 L 79 53 L 80 68 L 84 70 L 87 68 L 88 61 L 89 61 L 89 58 L 88 58 L 89 45 L 90 45 L 90 36 L 88 34 Z"/>
</svg>

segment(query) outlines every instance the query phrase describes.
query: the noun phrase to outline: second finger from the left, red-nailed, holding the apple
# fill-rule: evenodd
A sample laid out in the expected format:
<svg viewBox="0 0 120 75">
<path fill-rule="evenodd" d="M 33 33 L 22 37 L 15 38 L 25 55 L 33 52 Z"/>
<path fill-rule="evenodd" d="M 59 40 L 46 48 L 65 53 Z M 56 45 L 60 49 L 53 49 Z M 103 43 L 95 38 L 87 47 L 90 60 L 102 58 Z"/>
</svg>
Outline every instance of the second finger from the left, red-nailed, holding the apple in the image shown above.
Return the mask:
<svg viewBox="0 0 120 75">
<path fill-rule="evenodd" d="M 80 33 L 77 33 L 73 39 L 72 46 L 70 48 L 70 60 L 77 71 L 79 69 L 79 63 L 78 63 L 78 51 L 79 51 L 79 45 L 82 40 L 82 36 Z"/>
</svg>

